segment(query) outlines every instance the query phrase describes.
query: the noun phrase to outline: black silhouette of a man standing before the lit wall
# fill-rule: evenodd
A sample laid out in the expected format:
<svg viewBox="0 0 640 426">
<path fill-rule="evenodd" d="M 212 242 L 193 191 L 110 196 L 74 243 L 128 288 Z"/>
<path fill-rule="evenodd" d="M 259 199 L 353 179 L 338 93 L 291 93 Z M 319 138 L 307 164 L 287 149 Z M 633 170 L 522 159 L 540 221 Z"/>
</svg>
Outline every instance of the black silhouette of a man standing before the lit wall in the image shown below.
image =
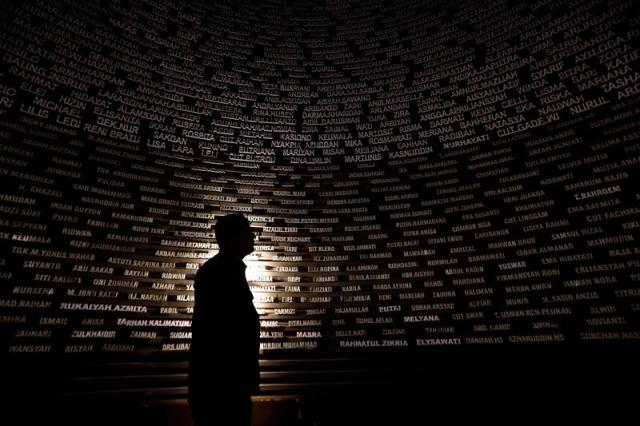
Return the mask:
<svg viewBox="0 0 640 426">
<path fill-rule="evenodd" d="M 217 255 L 196 274 L 189 403 L 194 426 L 248 426 L 258 391 L 260 321 L 242 258 L 255 235 L 241 214 L 218 219 Z"/>
</svg>

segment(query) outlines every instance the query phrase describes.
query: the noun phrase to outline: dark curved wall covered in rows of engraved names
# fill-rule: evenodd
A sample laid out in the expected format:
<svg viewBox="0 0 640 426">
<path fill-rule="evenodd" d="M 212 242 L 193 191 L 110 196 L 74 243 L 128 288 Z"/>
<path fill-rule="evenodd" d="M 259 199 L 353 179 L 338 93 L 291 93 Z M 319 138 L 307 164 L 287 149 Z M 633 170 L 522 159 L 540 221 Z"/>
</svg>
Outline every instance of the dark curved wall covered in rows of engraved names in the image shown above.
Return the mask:
<svg viewBox="0 0 640 426">
<path fill-rule="evenodd" d="M 183 367 L 230 212 L 265 366 L 636 345 L 634 1 L 253 3 L 0 6 L 6 356 Z"/>
</svg>

